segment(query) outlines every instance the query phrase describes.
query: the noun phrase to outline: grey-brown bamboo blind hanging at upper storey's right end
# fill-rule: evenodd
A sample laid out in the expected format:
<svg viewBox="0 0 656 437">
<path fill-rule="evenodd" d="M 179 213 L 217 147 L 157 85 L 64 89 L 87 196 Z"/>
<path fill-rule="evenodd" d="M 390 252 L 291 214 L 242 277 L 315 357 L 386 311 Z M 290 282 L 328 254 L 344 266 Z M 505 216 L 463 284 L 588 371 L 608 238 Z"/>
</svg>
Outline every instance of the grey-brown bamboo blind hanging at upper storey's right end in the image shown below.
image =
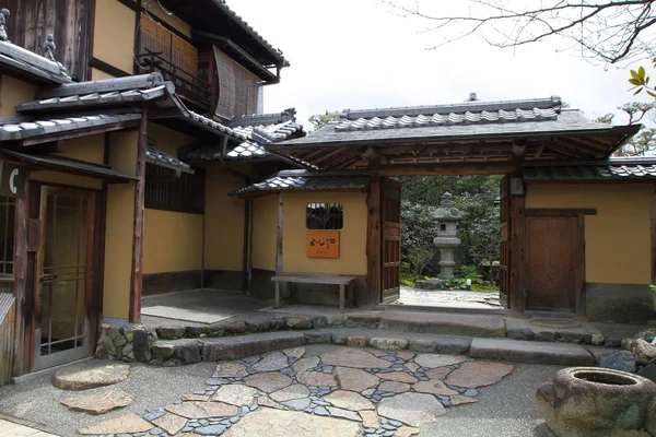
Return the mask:
<svg viewBox="0 0 656 437">
<path fill-rule="evenodd" d="M 219 76 L 215 114 L 225 118 L 258 114 L 259 78 L 214 47 Z"/>
</svg>

